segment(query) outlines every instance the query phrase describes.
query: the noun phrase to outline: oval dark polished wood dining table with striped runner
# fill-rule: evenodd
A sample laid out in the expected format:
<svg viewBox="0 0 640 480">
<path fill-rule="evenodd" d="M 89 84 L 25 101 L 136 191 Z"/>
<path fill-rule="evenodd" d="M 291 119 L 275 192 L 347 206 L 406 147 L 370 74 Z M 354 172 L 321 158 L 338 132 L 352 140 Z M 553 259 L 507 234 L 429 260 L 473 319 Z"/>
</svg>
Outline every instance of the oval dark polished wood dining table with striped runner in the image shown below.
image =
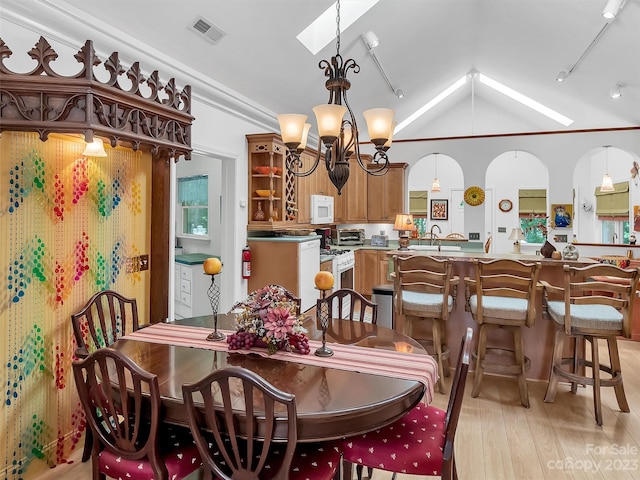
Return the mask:
<svg viewBox="0 0 640 480">
<path fill-rule="evenodd" d="M 233 319 L 233 315 L 220 314 L 218 328 L 232 330 Z M 183 319 L 176 324 L 201 327 L 204 338 L 213 328 L 213 316 Z M 304 326 L 309 339 L 321 340 L 322 331 L 315 317 L 305 318 Z M 330 347 L 332 342 L 427 355 L 415 340 L 370 323 L 333 319 L 327 329 L 327 345 Z M 415 379 L 307 365 L 252 351 L 216 351 L 128 338 L 118 340 L 114 348 L 158 376 L 165 421 L 179 425 L 188 424 L 182 384 L 230 365 L 256 372 L 296 396 L 301 442 L 344 438 L 387 425 L 420 402 L 427 389 Z M 313 354 L 312 350 L 309 355 Z"/>
</svg>

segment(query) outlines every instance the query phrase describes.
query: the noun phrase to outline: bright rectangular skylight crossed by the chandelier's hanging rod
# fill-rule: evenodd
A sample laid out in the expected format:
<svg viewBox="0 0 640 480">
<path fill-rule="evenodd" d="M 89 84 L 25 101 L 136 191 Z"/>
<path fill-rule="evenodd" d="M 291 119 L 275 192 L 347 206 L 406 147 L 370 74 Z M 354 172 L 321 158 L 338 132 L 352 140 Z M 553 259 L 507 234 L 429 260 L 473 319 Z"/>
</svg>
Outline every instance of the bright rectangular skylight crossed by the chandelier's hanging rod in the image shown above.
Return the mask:
<svg viewBox="0 0 640 480">
<path fill-rule="evenodd" d="M 340 32 L 367 13 L 379 0 L 341 0 Z M 336 4 L 327 8 L 318 18 L 296 37 L 315 55 L 336 38 Z"/>
</svg>

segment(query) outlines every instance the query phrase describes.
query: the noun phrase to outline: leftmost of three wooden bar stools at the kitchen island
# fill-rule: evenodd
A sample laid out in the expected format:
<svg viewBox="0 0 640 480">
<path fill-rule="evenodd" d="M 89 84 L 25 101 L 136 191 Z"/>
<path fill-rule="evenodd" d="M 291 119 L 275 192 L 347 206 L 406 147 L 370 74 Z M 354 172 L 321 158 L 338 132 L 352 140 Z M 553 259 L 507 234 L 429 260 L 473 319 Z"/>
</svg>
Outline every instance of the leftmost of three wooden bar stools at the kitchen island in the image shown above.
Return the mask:
<svg viewBox="0 0 640 480">
<path fill-rule="evenodd" d="M 444 322 L 455 305 L 459 280 L 452 274 L 453 263 L 425 255 L 398 255 L 394 260 L 396 325 L 402 333 L 413 337 L 416 321 L 431 321 L 431 338 L 416 340 L 433 352 L 438 362 L 438 389 L 444 393 L 442 377 L 449 376 Z"/>
</svg>

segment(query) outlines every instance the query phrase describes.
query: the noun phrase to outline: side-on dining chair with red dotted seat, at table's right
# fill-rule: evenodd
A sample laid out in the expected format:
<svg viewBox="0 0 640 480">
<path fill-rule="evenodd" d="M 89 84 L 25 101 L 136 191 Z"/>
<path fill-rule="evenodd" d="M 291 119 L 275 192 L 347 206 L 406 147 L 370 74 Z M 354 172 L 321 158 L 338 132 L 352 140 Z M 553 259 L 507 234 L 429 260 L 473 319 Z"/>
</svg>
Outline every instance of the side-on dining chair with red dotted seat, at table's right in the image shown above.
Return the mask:
<svg viewBox="0 0 640 480">
<path fill-rule="evenodd" d="M 418 404 L 390 425 L 343 442 L 344 470 L 364 465 L 406 475 L 457 479 L 455 436 L 462 410 L 473 329 L 467 328 L 453 375 L 447 410 Z M 360 477 L 358 477 L 360 480 Z"/>
</svg>

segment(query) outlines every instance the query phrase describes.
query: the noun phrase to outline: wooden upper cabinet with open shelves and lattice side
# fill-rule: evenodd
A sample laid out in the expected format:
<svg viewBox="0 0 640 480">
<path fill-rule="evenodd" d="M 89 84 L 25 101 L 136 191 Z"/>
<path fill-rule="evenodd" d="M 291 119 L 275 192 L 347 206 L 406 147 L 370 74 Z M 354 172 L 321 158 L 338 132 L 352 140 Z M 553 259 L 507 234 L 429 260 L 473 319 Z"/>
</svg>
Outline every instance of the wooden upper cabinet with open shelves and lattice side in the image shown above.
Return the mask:
<svg viewBox="0 0 640 480">
<path fill-rule="evenodd" d="M 249 229 L 271 230 L 297 223 L 296 178 L 285 167 L 286 147 L 273 133 L 247 135 Z"/>
</svg>

